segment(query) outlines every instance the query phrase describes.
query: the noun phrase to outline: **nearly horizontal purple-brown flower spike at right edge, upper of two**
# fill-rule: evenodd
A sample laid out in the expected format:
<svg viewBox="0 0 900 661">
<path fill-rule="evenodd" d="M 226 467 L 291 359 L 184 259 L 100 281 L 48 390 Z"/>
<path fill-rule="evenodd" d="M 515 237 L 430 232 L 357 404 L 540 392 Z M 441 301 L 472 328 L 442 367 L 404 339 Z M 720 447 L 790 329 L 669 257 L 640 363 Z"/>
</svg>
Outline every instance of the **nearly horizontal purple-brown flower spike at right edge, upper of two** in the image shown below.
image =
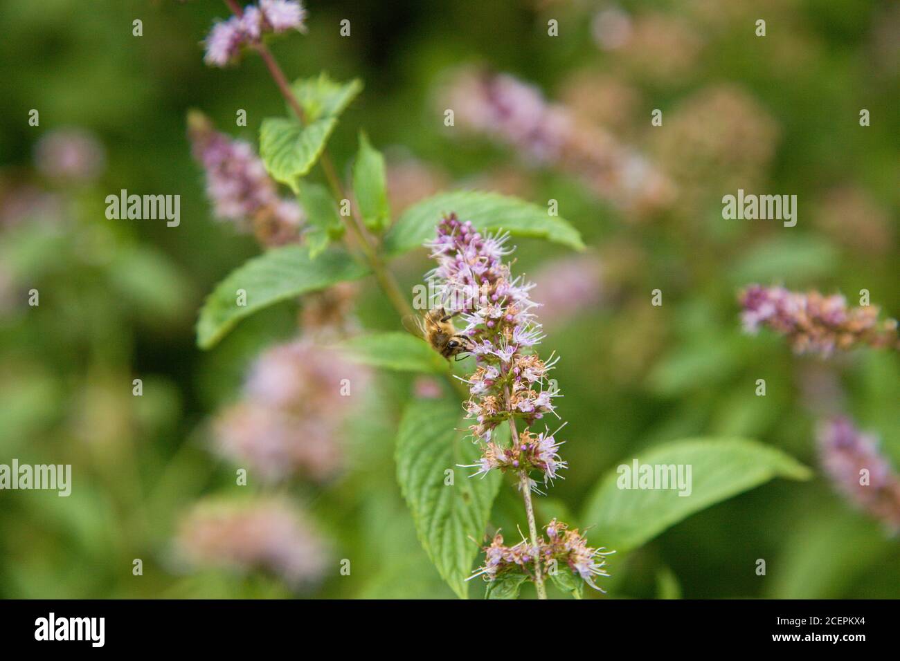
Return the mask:
<svg viewBox="0 0 900 661">
<path fill-rule="evenodd" d="M 896 319 L 878 322 L 878 306 L 851 308 L 839 294 L 800 293 L 783 287 L 752 284 L 739 297 L 744 330 L 761 327 L 785 335 L 796 353 L 827 358 L 835 350 L 866 344 L 900 349 Z"/>
</svg>

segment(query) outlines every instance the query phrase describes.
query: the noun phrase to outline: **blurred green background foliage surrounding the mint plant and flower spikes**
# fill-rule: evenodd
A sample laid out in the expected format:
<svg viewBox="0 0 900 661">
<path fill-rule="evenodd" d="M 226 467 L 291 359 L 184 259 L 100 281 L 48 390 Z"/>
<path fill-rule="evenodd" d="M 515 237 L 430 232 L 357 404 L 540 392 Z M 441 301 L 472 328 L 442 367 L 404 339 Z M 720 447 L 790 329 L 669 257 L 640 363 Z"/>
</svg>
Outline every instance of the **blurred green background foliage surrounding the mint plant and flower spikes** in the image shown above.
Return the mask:
<svg viewBox="0 0 900 661">
<path fill-rule="evenodd" d="M 887 315 L 900 314 L 896 3 L 322 0 L 307 8 L 308 34 L 273 45 L 284 70 L 365 81 L 330 141 L 341 172 L 361 126 L 389 165 L 414 157 L 429 182 L 558 200 L 599 259 L 599 302 L 554 324 L 545 341 L 562 355 L 555 377 L 571 469 L 538 499 L 540 519 L 579 523 L 605 471 L 677 438 L 748 436 L 815 466 L 815 424 L 840 412 L 822 410 L 821 384 L 841 393 L 824 401 L 842 402 L 900 466 L 896 354 L 795 357 L 778 337 L 743 335 L 735 303 L 743 285 L 760 281 L 841 291 L 851 302 L 868 289 Z M 382 374 L 371 386 L 373 404 L 353 423 L 338 478 L 284 487 L 330 540 L 334 570 L 320 585 L 295 591 L 265 572 L 196 570 L 175 558 L 178 522 L 194 501 L 257 488 L 234 486 L 233 467 L 207 450 L 209 421 L 237 397 L 253 358 L 297 333 L 296 305 L 285 303 L 209 353 L 194 344 L 202 297 L 259 247 L 211 219 L 185 112 L 200 108 L 253 144 L 263 118 L 284 113 L 258 58 L 203 66 L 200 42 L 227 15 L 212 0 L 0 5 L 0 462 L 71 463 L 74 476 L 67 498 L 0 493 L 0 596 L 452 595 L 419 547 L 394 476 L 393 437 L 413 388 L 405 375 Z M 141 37 L 131 33 L 137 18 Z M 343 18 L 351 38 L 338 36 Z M 547 36 L 551 18 L 557 38 Z M 753 34 L 758 18 L 765 38 Z M 569 174 L 488 140 L 448 138 L 437 88 L 469 63 L 569 104 L 644 150 L 690 195 L 634 218 Z M 710 99 L 719 99 L 716 112 L 704 114 Z M 32 108 L 39 127 L 28 124 Z M 657 108 L 663 126 L 654 128 Z M 238 109 L 246 128 L 235 126 Z M 35 167 L 35 146 L 73 127 L 94 135 L 105 161 L 90 181 L 60 183 Z M 721 196 L 739 186 L 797 194 L 797 227 L 723 220 Z M 120 189 L 180 194 L 180 227 L 105 219 L 103 199 Z M 517 266 L 529 274 L 571 258 L 557 246 L 518 246 Z M 419 252 L 394 268 L 411 287 L 428 263 Z M 39 307 L 27 304 L 32 288 Z M 649 306 L 656 288 L 662 308 Z M 356 314 L 365 327 L 399 328 L 371 282 Z M 131 394 L 136 378 L 142 397 Z M 761 378 L 766 397 L 754 395 Z M 491 523 L 514 531 L 520 510 L 504 487 Z M 589 538 L 602 544 L 602 531 Z M 134 558 L 143 576 L 132 575 Z M 339 558 L 351 560 L 350 576 L 339 575 Z M 767 576 L 754 573 L 757 558 L 767 560 Z M 896 539 L 818 472 L 716 505 L 610 565 L 617 596 L 900 596 Z"/>
</svg>

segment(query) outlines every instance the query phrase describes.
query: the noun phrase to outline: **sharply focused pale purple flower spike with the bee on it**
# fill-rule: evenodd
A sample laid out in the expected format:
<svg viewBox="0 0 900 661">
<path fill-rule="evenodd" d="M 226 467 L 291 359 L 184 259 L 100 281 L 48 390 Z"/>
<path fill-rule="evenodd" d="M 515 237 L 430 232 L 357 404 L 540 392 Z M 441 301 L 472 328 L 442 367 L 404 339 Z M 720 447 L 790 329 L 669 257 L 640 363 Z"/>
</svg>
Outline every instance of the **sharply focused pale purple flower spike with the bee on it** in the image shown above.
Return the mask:
<svg viewBox="0 0 900 661">
<path fill-rule="evenodd" d="M 467 468 L 477 468 L 475 475 L 492 469 L 537 470 L 547 484 L 566 468 L 558 453 L 562 443 L 549 429 L 533 433 L 526 428 L 509 448 L 491 438 L 500 424 L 522 420 L 530 427 L 547 414 L 556 415 L 554 399 L 560 397 L 547 379 L 558 358 L 544 362 L 531 353 L 544 334 L 532 312 L 537 307 L 529 298 L 533 285 L 512 277 L 509 264 L 502 261 L 512 253 L 508 238 L 482 236 L 471 222 L 451 214 L 427 244 L 437 267 L 426 277 L 437 281 L 438 302 L 459 313 L 466 324 L 462 332 L 472 340 L 477 367 L 463 380 L 469 387 L 464 407 L 467 419 L 473 420 L 469 431 L 482 443 L 482 460 Z M 529 485 L 534 488 L 536 482 Z"/>
</svg>

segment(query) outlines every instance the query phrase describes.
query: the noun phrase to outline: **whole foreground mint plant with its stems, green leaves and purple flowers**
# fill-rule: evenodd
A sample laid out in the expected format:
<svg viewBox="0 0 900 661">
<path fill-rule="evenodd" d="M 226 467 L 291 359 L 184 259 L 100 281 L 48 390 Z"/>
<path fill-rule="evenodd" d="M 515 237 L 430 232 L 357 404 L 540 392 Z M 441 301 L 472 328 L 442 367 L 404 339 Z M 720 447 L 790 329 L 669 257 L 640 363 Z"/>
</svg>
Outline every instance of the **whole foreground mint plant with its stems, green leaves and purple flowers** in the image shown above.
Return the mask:
<svg viewBox="0 0 900 661">
<path fill-rule="evenodd" d="M 380 369 L 437 375 L 455 393 L 406 406 L 396 466 L 422 547 L 456 594 L 467 597 L 468 580 L 482 576 L 489 598 L 515 598 L 527 582 L 541 599 L 548 584 L 581 597 L 585 584 L 601 589 L 597 579 L 609 576 L 606 558 L 613 550 L 626 554 L 689 514 L 771 478 L 808 477 L 797 461 L 759 442 L 687 439 L 642 454 L 644 464 L 691 466 L 695 480 L 682 494 L 687 497 L 653 487 L 632 491 L 622 487 L 617 469 L 600 480 L 578 516 L 582 527 L 592 526 L 593 546 L 572 527 L 578 522 L 539 522 L 533 494 L 562 478 L 563 469 L 577 469 L 560 454 L 563 424 L 555 419 L 562 390 L 548 376 L 558 360 L 577 356 L 552 352 L 542 359 L 537 353 L 544 338 L 539 308 L 529 297 L 531 285 L 513 274 L 505 258 L 513 237 L 581 251 L 580 232 L 536 204 L 482 191 L 437 193 L 393 218 L 383 156 L 363 130 L 350 167 L 336 167 L 329 155 L 329 138 L 341 129 L 342 112 L 362 93 L 362 83 L 324 73 L 291 83 L 266 45 L 276 35 L 306 31 L 302 5 L 226 4 L 233 15 L 212 28 L 206 62 L 224 67 L 258 55 L 288 114 L 262 123 L 258 151 L 265 172 L 246 144 L 215 133 L 200 114 L 189 118 L 217 214 L 237 219 L 268 248 L 211 292 L 200 311 L 197 342 L 210 349 L 260 309 L 368 277 L 390 301 L 399 328 L 401 317 L 416 310 L 391 262 L 427 247 L 437 260 L 427 274 L 427 307 L 446 309 L 447 319 L 469 338 L 473 358 L 455 365 L 399 331 L 357 335 L 340 346 Z M 339 172 L 349 172 L 349 181 Z M 283 197 L 275 183 L 293 196 Z M 246 292 L 244 304 L 236 303 L 236 290 Z M 527 524 L 527 535 L 512 546 L 490 523 L 494 500 L 507 488 L 504 474 L 512 482 L 508 487 L 521 494 Z M 482 544 L 485 558 L 473 570 Z"/>
</svg>

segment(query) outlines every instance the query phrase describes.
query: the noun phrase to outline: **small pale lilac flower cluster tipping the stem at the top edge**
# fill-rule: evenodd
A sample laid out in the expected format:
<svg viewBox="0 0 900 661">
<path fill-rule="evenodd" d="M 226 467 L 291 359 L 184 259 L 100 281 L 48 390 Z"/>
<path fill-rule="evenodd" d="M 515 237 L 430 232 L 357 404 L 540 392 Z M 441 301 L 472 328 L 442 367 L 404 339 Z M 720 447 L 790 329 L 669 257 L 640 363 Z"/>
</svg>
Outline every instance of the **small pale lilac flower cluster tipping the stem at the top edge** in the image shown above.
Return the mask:
<svg viewBox="0 0 900 661">
<path fill-rule="evenodd" d="M 261 43 L 268 34 L 306 31 L 306 10 L 296 0 L 259 0 L 248 4 L 239 16 L 217 22 L 206 37 L 203 60 L 211 67 L 225 67 L 240 58 L 241 49 Z"/>
</svg>

